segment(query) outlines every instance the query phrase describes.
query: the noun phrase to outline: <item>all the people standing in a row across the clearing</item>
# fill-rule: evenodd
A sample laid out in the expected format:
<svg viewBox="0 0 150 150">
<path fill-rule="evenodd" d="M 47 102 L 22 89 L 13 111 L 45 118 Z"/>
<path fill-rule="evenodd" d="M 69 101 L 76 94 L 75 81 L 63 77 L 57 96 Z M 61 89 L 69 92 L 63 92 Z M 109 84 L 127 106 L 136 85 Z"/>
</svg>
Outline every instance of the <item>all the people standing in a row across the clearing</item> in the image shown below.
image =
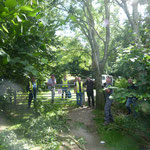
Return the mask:
<svg viewBox="0 0 150 150">
<path fill-rule="evenodd" d="M 133 90 L 135 89 L 135 85 L 133 84 L 132 79 L 128 79 L 128 89 Z M 86 92 L 88 97 L 88 107 L 94 108 L 94 81 L 87 77 L 86 81 L 83 82 L 81 80 L 81 77 L 76 77 L 74 81 L 74 91 L 76 93 L 76 100 L 77 105 L 83 107 L 83 96 L 84 96 L 84 87 L 86 86 Z M 54 103 L 55 98 L 55 85 L 56 85 L 56 78 L 54 74 L 51 75 L 51 78 L 47 82 L 48 89 L 51 91 L 52 100 L 51 103 Z M 68 91 L 70 89 L 69 81 L 67 80 L 66 75 L 62 79 L 62 99 L 65 97 L 65 99 L 68 96 Z M 34 77 L 32 77 L 31 81 L 28 83 L 28 91 L 29 91 L 29 100 L 28 100 L 28 107 L 31 106 L 31 101 L 34 99 L 34 105 L 36 104 L 36 94 L 37 94 L 37 82 Z M 110 76 L 107 76 L 106 78 L 106 84 L 104 86 L 104 95 L 105 95 L 105 107 L 104 107 L 104 125 L 108 125 L 109 123 L 114 122 L 112 113 L 111 113 L 111 105 L 113 102 L 113 99 L 111 98 L 111 95 L 113 94 L 112 89 L 112 78 Z M 91 101 L 92 99 L 92 101 Z M 126 108 L 128 110 L 128 114 L 131 114 L 131 107 L 130 105 L 135 105 L 136 97 L 127 97 L 126 101 Z"/>
</svg>

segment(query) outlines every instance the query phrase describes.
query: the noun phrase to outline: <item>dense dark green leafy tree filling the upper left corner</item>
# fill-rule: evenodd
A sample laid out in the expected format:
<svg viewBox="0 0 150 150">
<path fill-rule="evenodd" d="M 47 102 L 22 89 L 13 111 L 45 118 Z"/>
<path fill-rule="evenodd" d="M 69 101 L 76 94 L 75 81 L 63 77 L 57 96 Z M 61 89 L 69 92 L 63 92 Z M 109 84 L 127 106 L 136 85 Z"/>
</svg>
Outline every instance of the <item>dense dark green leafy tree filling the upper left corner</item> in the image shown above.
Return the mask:
<svg viewBox="0 0 150 150">
<path fill-rule="evenodd" d="M 53 1 L 49 1 L 52 4 Z M 46 3 L 46 2 L 45 2 Z M 57 12 L 42 1 L 3 0 L 0 3 L 0 78 L 18 83 L 28 75 L 44 77 L 58 45 L 53 21 Z M 49 13 L 49 16 L 45 14 Z M 55 16 L 54 16 L 55 14 Z M 51 17 L 50 17 L 51 16 Z M 49 62 L 49 63 L 48 63 Z M 42 73 L 41 73 L 42 72 Z M 25 85 L 25 84 L 24 84 Z"/>
</svg>

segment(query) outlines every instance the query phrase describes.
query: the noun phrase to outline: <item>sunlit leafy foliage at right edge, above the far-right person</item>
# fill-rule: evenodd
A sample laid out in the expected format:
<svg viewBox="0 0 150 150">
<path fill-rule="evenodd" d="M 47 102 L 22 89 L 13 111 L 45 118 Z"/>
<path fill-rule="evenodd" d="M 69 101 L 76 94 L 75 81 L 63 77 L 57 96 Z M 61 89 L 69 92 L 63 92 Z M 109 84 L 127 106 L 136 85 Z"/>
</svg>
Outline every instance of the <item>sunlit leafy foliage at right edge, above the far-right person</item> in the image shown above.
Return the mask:
<svg viewBox="0 0 150 150">
<path fill-rule="evenodd" d="M 141 92 L 149 91 L 149 50 L 137 49 L 133 46 L 124 49 L 119 54 L 116 64 L 113 66 L 114 74 L 125 78 L 136 79 L 138 89 Z"/>
</svg>

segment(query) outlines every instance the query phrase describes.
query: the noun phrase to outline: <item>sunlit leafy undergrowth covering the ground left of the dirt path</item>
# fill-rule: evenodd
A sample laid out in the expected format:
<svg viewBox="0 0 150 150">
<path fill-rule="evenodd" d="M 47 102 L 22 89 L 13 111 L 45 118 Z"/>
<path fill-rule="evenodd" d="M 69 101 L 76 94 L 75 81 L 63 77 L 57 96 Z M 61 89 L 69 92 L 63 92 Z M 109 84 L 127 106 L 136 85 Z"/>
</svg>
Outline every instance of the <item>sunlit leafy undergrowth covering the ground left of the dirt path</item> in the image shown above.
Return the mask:
<svg viewBox="0 0 150 150">
<path fill-rule="evenodd" d="M 69 129 L 66 117 L 68 106 L 75 105 L 39 101 L 36 109 L 22 107 L 22 110 L 14 110 L 7 114 L 15 127 L 0 133 L 0 148 L 26 150 L 38 145 L 42 150 L 58 150 L 62 145 L 60 135 Z M 78 140 L 80 142 L 80 139 Z"/>
</svg>

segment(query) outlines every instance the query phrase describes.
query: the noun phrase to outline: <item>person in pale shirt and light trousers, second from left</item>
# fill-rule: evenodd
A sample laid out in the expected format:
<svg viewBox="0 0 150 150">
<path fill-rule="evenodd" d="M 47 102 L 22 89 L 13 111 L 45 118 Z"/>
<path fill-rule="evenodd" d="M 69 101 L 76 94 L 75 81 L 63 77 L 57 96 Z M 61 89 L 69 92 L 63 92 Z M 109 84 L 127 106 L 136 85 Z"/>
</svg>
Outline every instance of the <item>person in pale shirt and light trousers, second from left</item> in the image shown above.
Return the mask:
<svg viewBox="0 0 150 150">
<path fill-rule="evenodd" d="M 51 91 L 51 95 L 52 95 L 52 101 L 51 103 L 54 102 L 54 97 L 55 97 L 55 84 L 56 84 L 56 78 L 54 76 L 54 74 L 51 75 L 51 78 L 48 80 L 47 85 L 48 85 L 48 89 Z"/>
</svg>

